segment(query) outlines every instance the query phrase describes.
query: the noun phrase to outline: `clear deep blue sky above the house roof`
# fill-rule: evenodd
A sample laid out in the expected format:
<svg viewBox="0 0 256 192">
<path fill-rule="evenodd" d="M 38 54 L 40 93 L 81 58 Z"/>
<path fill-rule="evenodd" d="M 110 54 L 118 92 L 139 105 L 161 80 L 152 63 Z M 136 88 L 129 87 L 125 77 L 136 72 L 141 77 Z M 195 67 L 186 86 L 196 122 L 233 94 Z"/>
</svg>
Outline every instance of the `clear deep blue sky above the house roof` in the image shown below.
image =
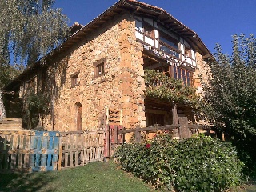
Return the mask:
<svg viewBox="0 0 256 192">
<path fill-rule="evenodd" d="M 70 18 L 70 25 L 87 24 L 118 0 L 56 0 Z M 174 18 L 194 30 L 214 53 L 216 43 L 231 54 L 233 34 L 256 35 L 255 0 L 142 0 L 161 7 Z"/>
</svg>

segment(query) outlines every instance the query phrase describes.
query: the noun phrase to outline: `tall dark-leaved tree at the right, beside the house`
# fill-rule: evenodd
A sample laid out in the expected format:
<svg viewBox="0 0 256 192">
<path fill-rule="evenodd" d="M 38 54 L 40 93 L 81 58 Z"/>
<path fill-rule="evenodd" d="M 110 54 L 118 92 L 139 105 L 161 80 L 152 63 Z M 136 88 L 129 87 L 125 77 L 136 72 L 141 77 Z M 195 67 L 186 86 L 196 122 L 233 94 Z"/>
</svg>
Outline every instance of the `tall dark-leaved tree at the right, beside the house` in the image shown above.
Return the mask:
<svg viewBox="0 0 256 192">
<path fill-rule="evenodd" d="M 202 109 L 231 141 L 250 150 L 256 145 L 256 39 L 253 34 L 234 35 L 231 56 L 219 45 L 216 50 L 216 60 L 209 63 L 209 82 L 203 85 Z"/>
</svg>

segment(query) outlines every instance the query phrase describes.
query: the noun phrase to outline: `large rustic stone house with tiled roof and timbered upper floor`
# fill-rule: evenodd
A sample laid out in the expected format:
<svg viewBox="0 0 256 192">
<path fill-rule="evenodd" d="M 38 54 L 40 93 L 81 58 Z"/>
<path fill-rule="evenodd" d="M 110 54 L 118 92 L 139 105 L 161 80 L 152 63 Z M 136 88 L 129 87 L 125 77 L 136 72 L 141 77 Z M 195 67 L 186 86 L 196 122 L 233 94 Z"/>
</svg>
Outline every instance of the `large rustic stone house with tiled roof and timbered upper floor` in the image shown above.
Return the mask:
<svg viewBox="0 0 256 192">
<path fill-rule="evenodd" d="M 172 123 L 172 106 L 145 98 L 144 70 L 198 87 L 210 51 L 193 30 L 162 8 L 120 0 L 86 26 L 75 23 L 61 46 L 28 67 L 5 90 L 49 98 L 47 130 L 94 130 L 116 111 L 126 128 Z M 9 98 L 10 100 L 10 98 Z M 6 106 L 10 115 L 11 106 Z M 178 115 L 190 113 L 178 106 Z"/>
</svg>

